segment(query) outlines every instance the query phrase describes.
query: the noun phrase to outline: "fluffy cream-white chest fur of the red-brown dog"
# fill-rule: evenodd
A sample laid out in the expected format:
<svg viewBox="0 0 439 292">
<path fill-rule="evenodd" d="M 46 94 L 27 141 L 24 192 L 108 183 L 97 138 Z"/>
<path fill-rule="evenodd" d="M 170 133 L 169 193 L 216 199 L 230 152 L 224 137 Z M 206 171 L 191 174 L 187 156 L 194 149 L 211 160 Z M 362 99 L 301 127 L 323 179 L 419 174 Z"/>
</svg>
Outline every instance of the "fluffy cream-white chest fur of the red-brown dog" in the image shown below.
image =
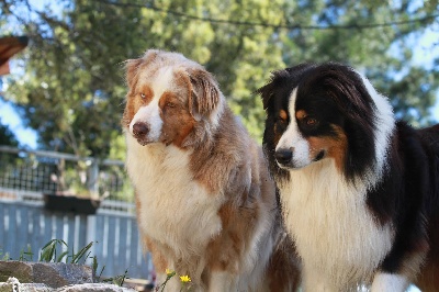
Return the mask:
<svg viewBox="0 0 439 292">
<path fill-rule="evenodd" d="M 224 199 L 192 179 L 189 153 L 172 145 L 140 146 L 131 135 L 126 168 L 140 205 L 140 231 L 169 246 L 176 256 L 204 250 L 222 228 Z"/>
</svg>

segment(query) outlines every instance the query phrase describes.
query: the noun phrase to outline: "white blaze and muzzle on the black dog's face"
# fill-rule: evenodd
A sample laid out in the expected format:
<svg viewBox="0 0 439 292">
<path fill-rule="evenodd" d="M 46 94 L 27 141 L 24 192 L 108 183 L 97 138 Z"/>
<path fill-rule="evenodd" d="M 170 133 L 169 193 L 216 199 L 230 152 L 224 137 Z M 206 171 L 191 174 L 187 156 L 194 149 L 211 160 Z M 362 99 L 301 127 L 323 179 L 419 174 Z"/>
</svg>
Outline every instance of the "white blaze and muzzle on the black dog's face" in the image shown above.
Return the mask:
<svg viewBox="0 0 439 292">
<path fill-rule="evenodd" d="M 312 158 L 309 157 L 309 143 L 302 136 L 301 132 L 299 131 L 297 121 L 295 119 L 296 97 L 297 88 L 295 88 L 290 96 L 290 124 L 288 125 L 286 131 L 282 134 L 282 137 L 275 146 L 275 150 L 291 149 L 293 151 L 291 165 L 294 168 L 301 168 L 309 165 L 312 162 Z M 279 165 L 279 167 L 283 168 L 282 165 Z"/>
</svg>

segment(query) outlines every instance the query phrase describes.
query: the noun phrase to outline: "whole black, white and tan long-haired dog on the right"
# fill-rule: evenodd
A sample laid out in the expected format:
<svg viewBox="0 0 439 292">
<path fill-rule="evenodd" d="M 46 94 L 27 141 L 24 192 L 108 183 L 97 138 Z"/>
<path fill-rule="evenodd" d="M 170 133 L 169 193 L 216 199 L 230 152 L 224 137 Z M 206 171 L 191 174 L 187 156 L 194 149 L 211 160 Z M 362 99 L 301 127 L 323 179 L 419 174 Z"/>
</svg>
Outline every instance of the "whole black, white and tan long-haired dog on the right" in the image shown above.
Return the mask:
<svg viewBox="0 0 439 292">
<path fill-rule="evenodd" d="M 275 71 L 258 92 L 305 291 L 437 291 L 439 126 L 396 122 L 368 79 L 334 63 Z"/>
</svg>

